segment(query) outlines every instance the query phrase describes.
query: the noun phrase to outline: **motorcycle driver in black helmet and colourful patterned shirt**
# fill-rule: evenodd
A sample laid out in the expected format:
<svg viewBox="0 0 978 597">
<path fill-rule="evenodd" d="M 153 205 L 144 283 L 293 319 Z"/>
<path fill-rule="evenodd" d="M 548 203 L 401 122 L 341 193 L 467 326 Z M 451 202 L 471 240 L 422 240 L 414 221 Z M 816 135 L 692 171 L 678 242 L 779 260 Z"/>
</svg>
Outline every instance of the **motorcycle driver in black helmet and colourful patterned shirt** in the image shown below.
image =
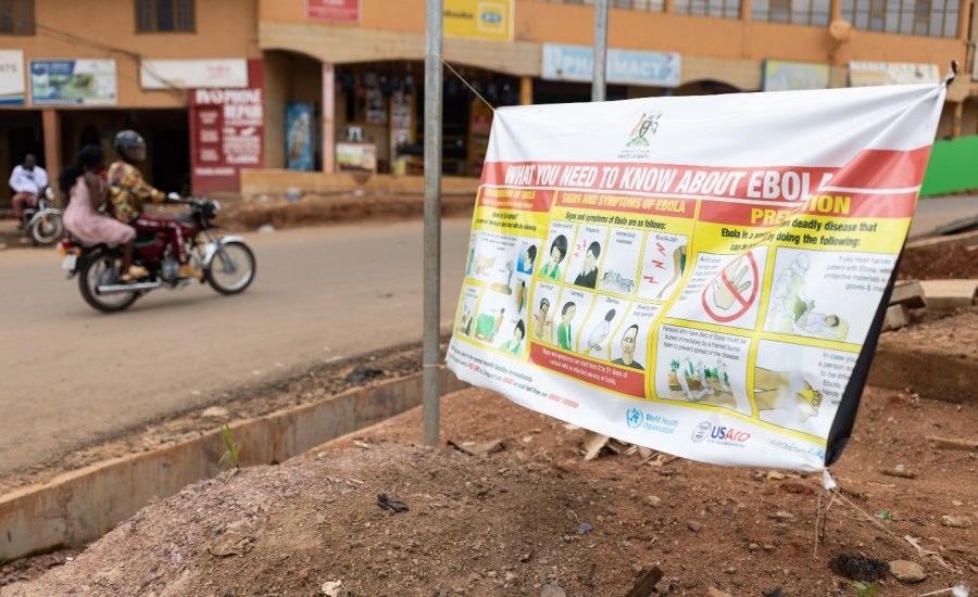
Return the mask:
<svg viewBox="0 0 978 597">
<path fill-rule="evenodd" d="M 137 232 L 165 232 L 180 264 L 177 276 L 201 278 L 201 271 L 189 263 L 180 223 L 142 213 L 147 200 L 153 203 L 166 201 L 163 191 L 149 186 L 142 179 L 142 173 L 134 165 L 146 160 L 146 141 L 135 130 L 122 130 L 115 136 L 115 152 L 120 160 L 109 166 L 109 199 L 115 218 L 128 224 Z"/>
</svg>

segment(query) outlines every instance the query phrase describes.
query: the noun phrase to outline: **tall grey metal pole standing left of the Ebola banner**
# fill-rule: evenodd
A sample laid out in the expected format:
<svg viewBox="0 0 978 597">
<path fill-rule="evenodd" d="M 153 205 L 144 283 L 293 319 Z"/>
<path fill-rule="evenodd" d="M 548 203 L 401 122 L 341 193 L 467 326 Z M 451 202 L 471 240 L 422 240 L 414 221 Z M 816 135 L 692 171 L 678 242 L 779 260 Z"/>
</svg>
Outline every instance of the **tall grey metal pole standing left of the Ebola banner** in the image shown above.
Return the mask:
<svg viewBox="0 0 978 597">
<path fill-rule="evenodd" d="M 442 0 L 427 0 L 425 34 L 425 307 L 422 393 L 425 444 L 438 445 L 439 301 L 441 298 L 441 18 Z"/>
</svg>

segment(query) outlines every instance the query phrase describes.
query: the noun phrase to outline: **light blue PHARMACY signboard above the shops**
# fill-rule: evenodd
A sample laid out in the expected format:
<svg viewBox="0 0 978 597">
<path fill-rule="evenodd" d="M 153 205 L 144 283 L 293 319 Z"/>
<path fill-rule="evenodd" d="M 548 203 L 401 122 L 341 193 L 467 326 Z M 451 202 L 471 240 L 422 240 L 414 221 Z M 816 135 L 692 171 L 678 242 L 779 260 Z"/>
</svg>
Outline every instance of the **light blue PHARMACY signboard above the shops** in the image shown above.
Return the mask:
<svg viewBox="0 0 978 597">
<path fill-rule="evenodd" d="M 611 84 L 679 87 L 682 58 L 676 52 L 609 50 L 606 79 Z M 587 46 L 543 45 L 542 78 L 589 82 L 594 50 Z"/>
</svg>

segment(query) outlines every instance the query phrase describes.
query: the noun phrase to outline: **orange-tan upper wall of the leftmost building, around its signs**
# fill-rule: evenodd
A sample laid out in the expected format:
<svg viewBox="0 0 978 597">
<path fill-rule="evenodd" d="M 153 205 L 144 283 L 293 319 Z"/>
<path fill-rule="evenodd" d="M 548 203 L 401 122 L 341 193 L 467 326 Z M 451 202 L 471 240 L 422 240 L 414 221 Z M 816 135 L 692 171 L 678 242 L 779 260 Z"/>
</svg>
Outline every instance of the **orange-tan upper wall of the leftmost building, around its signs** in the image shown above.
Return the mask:
<svg viewBox="0 0 978 597">
<path fill-rule="evenodd" d="M 29 71 L 30 60 L 114 59 L 118 87 L 118 104 L 114 107 L 181 107 L 187 103 L 184 92 L 145 91 L 139 87 L 140 56 L 192 60 L 262 55 L 256 36 L 258 0 L 197 0 L 195 4 L 197 33 L 137 34 L 134 0 L 35 0 L 35 35 L 0 36 L 0 49 L 23 50 L 25 71 Z"/>
</svg>

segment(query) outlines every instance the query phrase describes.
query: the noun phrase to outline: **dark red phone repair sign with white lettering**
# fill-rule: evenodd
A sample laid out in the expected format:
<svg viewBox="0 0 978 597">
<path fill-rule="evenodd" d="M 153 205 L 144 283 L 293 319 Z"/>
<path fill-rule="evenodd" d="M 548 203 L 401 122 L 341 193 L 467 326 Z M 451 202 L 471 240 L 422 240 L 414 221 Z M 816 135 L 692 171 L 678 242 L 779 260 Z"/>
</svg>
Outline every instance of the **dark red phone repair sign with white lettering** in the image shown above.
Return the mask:
<svg viewBox="0 0 978 597">
<path fill-rule="evenodd" d="M 248 61 L 244 89 L 190 91 L 191 187 L 197 194 L 240 189 L 243 168 L 264 166 L 264 77 Z"/>
</svg>

